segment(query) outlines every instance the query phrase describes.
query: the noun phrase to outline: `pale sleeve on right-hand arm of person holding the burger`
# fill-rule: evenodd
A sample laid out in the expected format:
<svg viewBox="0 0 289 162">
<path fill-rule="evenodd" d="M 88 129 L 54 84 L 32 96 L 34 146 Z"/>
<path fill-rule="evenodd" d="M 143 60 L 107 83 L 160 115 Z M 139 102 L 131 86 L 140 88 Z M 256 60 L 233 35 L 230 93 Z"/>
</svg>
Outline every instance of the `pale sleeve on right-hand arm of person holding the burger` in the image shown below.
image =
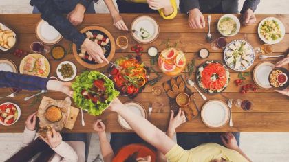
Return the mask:
<svg viewBox="0 0 289 162">
<path fill-rule="evenodd" d="M 65 141 L 61 141 L 61 143 L 56 147 L 52 148 L 56 154 L 63 157 L 61 160 L 62 162 L 77 162 L 78 161 L 78 154 L 75 152 L 75 150 L 72 148 L 72 146 L 69 146 Z"/>
</svg>

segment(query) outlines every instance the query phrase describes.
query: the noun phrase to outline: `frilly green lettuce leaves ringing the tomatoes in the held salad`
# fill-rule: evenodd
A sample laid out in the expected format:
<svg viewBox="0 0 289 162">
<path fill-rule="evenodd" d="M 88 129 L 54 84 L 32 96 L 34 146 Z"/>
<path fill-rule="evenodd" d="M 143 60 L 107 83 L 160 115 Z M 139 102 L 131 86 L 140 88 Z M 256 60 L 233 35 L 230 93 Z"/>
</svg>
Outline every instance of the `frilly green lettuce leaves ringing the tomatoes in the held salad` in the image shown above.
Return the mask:
<svg viewBox="0 0 289 162">
<path fill-rule="evenodd" d="M 94 80 L 97 79 L 104 80 L 106 88 L 105 94 L 107 94 L 108 97 L 105 102 L 98 101 L 94 104 L 92 100 L 85 99 L 85 97 L 81 95 L 81 91 L 83 91 L 83 89 L 92 88 Z M 94 116 L 103 113 L 105 108 L 109 106 L 110 102 L 120 94 L 114 89 L 114 82 L 98 71 L 85 71 L 81 73 L 80 76 L 76 77 L 75 82 L 72 83 L 72 89 L 74 89 L 73 100 L 76 105 Z"/>
</svg>

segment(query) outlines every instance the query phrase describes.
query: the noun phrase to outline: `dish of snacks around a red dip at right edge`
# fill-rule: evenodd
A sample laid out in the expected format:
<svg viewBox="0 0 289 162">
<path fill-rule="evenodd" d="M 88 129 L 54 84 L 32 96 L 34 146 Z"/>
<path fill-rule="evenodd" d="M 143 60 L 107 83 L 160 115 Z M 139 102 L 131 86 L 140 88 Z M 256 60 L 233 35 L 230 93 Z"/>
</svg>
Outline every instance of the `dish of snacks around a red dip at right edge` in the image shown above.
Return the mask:
<svg viewBox="0 0 289 162">
<path fill-rule="evenodd" d="M 283 90 L 289 86 L 289 71 L 283 67 L 272 69 L 269 82 L 273 89 Z"/>
</svg>

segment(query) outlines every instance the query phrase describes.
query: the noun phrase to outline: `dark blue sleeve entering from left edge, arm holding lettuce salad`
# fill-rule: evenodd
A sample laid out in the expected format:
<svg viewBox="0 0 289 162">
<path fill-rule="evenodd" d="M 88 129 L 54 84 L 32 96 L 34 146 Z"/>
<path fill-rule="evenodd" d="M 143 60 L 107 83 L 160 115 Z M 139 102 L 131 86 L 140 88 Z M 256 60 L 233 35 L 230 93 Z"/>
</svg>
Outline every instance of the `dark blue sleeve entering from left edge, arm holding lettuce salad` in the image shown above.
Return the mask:
<svg viewBox="0 0 289 162">
<path fill-rule="evenodd" d="M 20 73 L 0 71 L 0 88 L 21 88 L 28 91 L 47 90 L 50 79 Z"/>
</svg>

